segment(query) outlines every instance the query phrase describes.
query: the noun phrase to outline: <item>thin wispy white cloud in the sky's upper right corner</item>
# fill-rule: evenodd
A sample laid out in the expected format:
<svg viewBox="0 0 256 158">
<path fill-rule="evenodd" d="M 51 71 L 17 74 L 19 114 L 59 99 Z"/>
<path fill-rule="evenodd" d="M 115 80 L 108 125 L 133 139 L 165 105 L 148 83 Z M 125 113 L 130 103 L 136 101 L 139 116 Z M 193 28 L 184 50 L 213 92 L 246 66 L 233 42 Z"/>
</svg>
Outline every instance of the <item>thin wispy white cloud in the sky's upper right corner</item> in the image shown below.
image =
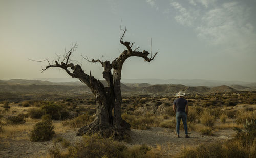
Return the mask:
<svg viewBox="0 0 256 158">
<path fill-rule="evenodd" d="M 221 5 L 214 2 L 189 1 L 186 5 L 189 10 L 175 1 L 171 1 L 170 5 L 177 11 L 174 16 L 176 21 L 193 28 L 200 39 L 210 44 L 225 46 L 230 53 L 252 52 L 255 44 L 251 41 L 256 40 L 256 35 L 249 21 L 248 7 L 238 2 Z M 197 3 L 201 4 L 201 8 Z M 209 8 L 209 4 L 215 7 Z"/>
</svg>

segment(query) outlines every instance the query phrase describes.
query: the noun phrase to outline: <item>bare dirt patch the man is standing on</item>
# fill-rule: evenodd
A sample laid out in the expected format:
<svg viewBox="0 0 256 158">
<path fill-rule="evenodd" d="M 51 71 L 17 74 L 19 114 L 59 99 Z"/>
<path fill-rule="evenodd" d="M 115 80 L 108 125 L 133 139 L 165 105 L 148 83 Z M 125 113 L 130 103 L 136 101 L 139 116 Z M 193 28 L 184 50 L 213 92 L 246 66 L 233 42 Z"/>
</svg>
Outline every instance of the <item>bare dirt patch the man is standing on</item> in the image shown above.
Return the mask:
<svg viewBox="0 0 256 158">
<path fill-rule="evenodd" d="M 195 147 L 199 144 L 224 141 L 233 137 L 235 132 L 232 129 L 220 130 L 215 133 L 215 136 L 203 136 L 196 131 L 189 132 L 190 138 L 185 138 L 184 131 L 180 131 L 180 138 L 176 137 L 176 132 L 173 129 L 151 127 L 149 130 L 132 129 L 130 136 L 131 143 L 147 144 L 151 146 L 155 152 L 163 156 L 172 156 L 179 153 L 185 147 Z"/>
</svg>

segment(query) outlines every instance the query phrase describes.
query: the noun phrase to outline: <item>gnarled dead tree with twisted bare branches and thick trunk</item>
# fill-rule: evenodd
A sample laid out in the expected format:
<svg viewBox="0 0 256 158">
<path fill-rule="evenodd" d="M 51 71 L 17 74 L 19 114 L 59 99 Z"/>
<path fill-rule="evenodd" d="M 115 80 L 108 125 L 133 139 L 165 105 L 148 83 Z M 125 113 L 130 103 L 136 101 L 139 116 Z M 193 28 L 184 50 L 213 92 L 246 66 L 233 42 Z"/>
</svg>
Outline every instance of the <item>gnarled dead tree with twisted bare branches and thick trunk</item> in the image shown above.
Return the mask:
<svg viewBox="0 0 256 158">
<path fill-rule="evenodd" d="M 105 137 L 114 137 L 117 140 L 121 140 L 127 134 L 126 132 L 130 130 L 130 124 L 124 121 L 121 117 L 121 104 L 122 104 L 122 95 L 121 95 L 121 71 L 122 66 L 125 60 L 132 56 L 137 56 L 144 58 L 144 61 L 150 62 L 154 60 L 156 54 L 150 58 L 148 55 L 150 54 L 147 51 L 136 51 L 132 50 L 132 46 L 134 43 L 130 42 L 123 42 L 123 37 L 126 32 L 122 30 L 123 34 L 120 37 L 120 43 L 126 47 L 118 58 L 113 60 L 111 63 L 110 61 L 103 60 L 88 60 L 92 63 L 100 63 L 103 67 L 103 78 L 108 83 L 108 86 L 104 87 L 104 85 L 97 79 L 95 79 L 91 72 L 90 74 L 86 74 L 79 64 L 74 65 L 70 59 L 72 53 L 76 50 L 77 44 L 74 44 L 71 49 L 65 53 L 62 61 L 60 57 L 57 60 L 54 60 L 54 64 L 50 64 L 46 66 L 42 71 L 45 71 L 51 67 L 59 67 L 64 69 L 71 77 L 78 78 L 81 82 L 85 83 L 95 95 L 97 100 L 97 112 L 95 120 L 84 126 L 81 127 L 77 133 L 77 135 L 88 134 L 91 135 L 93 133 L 99 133 Z M 111 70 L 113 69 L 113 74 Z"/>
</svg>

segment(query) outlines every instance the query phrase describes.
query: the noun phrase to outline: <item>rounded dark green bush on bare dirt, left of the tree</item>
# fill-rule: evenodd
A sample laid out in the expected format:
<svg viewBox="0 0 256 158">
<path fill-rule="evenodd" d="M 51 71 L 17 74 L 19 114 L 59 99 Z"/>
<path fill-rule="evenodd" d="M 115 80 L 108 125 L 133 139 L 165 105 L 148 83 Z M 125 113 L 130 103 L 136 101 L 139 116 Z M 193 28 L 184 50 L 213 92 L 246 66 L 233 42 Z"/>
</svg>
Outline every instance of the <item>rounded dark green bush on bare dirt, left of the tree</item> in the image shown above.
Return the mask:
<svg viewBox="0 0 256 158">
<path fill-rule="evenodd" d="M 48 141 L 52 139 L 55 132 L 53 131 L 54 126 L 50 115 L 42 116 L 42 121 L 35 124 L 31 131 L 30 138 L 34 142 Z"/>
</svg>

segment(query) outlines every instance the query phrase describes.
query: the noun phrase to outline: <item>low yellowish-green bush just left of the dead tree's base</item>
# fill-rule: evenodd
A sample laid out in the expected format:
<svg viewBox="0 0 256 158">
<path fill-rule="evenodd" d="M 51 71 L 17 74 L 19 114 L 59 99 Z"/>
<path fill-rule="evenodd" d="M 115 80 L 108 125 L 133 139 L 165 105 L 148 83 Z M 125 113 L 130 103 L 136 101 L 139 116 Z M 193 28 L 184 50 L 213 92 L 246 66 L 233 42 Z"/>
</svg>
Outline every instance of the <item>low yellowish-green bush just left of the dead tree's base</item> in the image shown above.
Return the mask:
<svg viewBox="0 0 256 158">
<path fill-rule="evenodd" d="M 69 126 L 72 128 L 79 128 L 91 123 L 95 117 L 92 117 L 89 113 L 82 114 L 72 120 L 62 122 L 64 126 Z"/>
</svg>

